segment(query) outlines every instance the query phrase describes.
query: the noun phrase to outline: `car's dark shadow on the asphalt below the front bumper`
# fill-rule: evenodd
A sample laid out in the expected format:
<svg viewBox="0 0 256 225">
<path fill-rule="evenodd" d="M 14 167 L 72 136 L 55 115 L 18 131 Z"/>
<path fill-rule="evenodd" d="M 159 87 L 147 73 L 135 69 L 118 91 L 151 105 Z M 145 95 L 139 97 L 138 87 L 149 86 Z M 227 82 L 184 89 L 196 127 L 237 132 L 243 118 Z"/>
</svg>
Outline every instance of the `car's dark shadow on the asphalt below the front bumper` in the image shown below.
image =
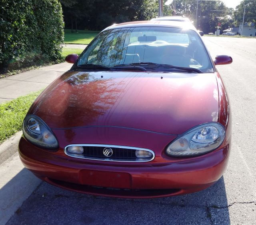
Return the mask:
<svg viewBox="0 0 256 225">
<path fill-rule="evenodd" d="M 7 224 L 71 223 L 230 224 L 224 178 L 197 193 L 158 199 L 95 197 L 43 182 Z"/>
</svg>

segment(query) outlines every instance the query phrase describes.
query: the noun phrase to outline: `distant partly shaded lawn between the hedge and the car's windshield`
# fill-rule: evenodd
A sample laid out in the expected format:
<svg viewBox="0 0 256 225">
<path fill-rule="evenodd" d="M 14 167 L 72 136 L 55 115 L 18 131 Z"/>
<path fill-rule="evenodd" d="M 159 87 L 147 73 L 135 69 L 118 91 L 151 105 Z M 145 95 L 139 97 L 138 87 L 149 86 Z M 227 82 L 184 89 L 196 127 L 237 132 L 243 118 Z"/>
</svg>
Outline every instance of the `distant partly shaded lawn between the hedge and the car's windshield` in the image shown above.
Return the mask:
<svg viewBox="0 0 256 225">
<path fill-rule="evenodd" d="M 64 29 L 65 44 L 89 44 L 100 31 L 77 30 L 71 33 L 70 29 Z"/>
</svg>

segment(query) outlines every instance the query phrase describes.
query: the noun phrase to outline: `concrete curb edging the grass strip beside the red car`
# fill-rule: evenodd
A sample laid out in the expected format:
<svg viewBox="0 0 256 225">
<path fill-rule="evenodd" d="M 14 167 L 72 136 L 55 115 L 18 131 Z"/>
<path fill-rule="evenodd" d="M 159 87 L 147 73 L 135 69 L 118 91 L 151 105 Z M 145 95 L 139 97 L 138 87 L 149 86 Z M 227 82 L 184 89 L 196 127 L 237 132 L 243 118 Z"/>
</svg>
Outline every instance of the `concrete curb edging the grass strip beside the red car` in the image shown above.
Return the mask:
<svg viewBox="0 0 256 225">
<path fill-rule="evenodd" d="M 22 131 L 18 131 L 16 134 L 14 134 L 0 145 L 0 164 L 18 152 L 18 144 L 21 135 Z"/>
</svg>

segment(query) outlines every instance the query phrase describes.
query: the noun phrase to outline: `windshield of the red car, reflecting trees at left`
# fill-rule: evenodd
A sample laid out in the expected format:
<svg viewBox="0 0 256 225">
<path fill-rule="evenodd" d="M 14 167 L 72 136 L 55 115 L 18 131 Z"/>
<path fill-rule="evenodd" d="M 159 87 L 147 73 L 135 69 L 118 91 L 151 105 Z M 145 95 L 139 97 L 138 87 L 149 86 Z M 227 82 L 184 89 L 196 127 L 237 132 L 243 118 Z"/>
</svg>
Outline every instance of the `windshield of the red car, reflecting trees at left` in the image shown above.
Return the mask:
<svg viewBox="0 0 256 225">
<path fill-rule="evenodd" d="M 101 32 L 80 56 L 78 66 L 106 67 L 131 64 L 167 64 L 213 72 L 210 58 L 193 30 L 136 27 Z"/>
</svg>

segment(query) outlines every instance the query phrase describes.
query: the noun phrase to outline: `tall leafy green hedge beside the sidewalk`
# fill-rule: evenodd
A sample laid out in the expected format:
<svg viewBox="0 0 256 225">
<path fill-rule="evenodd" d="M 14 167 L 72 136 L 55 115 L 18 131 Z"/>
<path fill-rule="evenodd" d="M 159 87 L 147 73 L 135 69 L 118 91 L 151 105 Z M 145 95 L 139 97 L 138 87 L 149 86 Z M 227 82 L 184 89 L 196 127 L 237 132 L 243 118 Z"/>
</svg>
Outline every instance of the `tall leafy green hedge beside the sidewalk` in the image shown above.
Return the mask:
<svg viewBox="0 0 256 225">
<path fill-rule="evenodd" d="M 58 0 L 1 0 L 0 15 L 0 70 L 61 59 L 64 22 Z"/>
</svg>

